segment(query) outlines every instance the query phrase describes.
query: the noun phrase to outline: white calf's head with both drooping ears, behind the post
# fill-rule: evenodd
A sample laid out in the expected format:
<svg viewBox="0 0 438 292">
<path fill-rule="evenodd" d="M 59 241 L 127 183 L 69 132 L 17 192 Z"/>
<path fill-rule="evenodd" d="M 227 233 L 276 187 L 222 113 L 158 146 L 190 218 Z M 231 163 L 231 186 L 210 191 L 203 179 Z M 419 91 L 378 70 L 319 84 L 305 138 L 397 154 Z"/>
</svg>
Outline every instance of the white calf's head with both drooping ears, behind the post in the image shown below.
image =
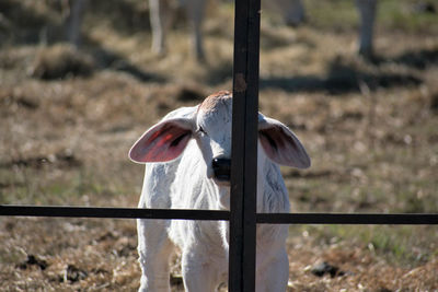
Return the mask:
<svg viewBox="0 0 438 292">
<path fill-rule="evenodd" d="M 217 185 L 229 185 L 231 121 L 231 94 L 218 92 L 193 113 L 172 116 L 147 130 L 131 148 L 129 157 L 138 163 L 169 162 L 177 159 L 188 141 L 195 139 L 207 166 L 206 176 Z M 262 114 L 258 115 L 258 140 L 266 156 L 275 163 L 297 168 L 310 166 L 298 138 L 285 125 Z"/>
</svg>

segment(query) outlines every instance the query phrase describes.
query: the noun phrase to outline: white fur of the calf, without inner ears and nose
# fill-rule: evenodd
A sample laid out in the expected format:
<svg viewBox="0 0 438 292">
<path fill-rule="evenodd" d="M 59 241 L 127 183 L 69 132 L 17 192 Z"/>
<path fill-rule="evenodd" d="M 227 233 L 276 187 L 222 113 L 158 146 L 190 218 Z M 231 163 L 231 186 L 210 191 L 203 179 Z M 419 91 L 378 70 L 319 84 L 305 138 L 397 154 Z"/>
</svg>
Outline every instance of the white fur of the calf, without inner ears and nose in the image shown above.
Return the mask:
<svg viewBox="0 0 438 292">
<path fill-rule="evenodd" d="M 229 209 L 229 184 L 217 182 L 210 168 L 212 157 L 229 157 L 231 154 L 231 101 L 218 103 L 215 109 L 219 110 L 216 113 L 188 107 L 164 117 L 160 124 L 188 121 L 193 136 L 177 159 L 146 165 L 139 208 Z M 265 128 L 270 121 L 275 120 L 260 114 L 260 122 Z M 285 127 L 275 122 L 278 127 Z M 199 127 L 206 133 L 200 132 Z M 137 144 L 141 144 L 141 138 Z M 296 147 L 302 159 L 297 167 L 308 167 L 310 160 L 298 139 Z M 288 192 L 279 167 L 267 157 L 261 142 L 257 160 L 257 212 L 289 212 Z M 175 246 L 182 252 L 186 291 L 215 291 L 221 282 L 227 281 L 228 222 L 140 219 L 137 223 L 142 270 L 139 291 L 170 291 L 169 260 Z M 287 235 L 287 225 L 257 226 L 256 291 L 286 291 L 289 270 L 285 244 Z"/>
</svg>

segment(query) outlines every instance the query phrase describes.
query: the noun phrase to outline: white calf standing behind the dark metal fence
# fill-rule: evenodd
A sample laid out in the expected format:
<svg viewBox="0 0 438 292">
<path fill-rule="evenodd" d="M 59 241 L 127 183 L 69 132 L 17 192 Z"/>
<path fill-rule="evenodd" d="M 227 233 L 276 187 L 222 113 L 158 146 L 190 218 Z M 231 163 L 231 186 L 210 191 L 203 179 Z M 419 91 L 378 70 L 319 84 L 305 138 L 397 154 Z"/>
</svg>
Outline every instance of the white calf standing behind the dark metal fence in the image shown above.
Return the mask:
<svg viewBox="0 0 438 292">
<path fill-rule="evenodd" d="M 228 210 L 230 207 L 231 109 L 229 92 L 200 105 L 170 113 L 147 130 L 129 152 L 132 161 L 151 163 L 139 208 Z M 281 122 L 258 114 L 257 212 L 289 212 L 289 198 L 278 164 L 298 168 L 310 159 L 298 138 Z M 182 252 L 186 291 L 215 291 L 227 281 L 228 222 L 137 221 L 141 265 L 140 291 L 170 291 L 169 260 Z M 287 225 L 258 225 L 256 291 L 286 291 Z"/>
</svg>

